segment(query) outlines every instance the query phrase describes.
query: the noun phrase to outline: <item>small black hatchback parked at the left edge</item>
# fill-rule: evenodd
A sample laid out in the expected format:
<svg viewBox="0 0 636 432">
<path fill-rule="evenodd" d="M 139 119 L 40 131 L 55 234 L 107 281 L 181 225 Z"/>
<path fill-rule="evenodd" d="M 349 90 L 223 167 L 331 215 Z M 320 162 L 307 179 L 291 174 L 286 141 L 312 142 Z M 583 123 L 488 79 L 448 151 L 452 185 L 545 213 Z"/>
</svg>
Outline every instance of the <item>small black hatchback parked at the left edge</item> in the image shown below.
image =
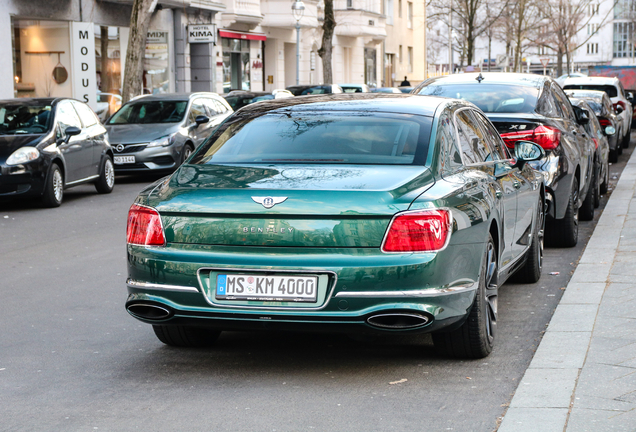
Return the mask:
<svg viewBox="0 0 636 432">
<path fill-rule="evenodd" d="M 62 204 L 64 189 L 115 185 L 106 128 L 88 105 L 74 99 L 0 101 L 0 198 L 41 197 Z"/>
</svg>

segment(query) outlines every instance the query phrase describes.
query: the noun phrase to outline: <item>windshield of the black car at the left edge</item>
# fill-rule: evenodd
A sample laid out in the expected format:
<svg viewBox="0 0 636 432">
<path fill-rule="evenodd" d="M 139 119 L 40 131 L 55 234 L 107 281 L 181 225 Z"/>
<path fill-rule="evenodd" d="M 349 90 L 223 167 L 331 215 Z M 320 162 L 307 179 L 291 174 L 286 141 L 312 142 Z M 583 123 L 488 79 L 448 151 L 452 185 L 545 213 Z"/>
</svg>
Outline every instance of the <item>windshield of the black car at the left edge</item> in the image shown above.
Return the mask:
<svg viewBox="0 0 636 432">
<path fill-rule="evenodd" d="M 51 105 L 0 105 L 0 135 L 43 134 L 51 124 Z"/>
</svg>

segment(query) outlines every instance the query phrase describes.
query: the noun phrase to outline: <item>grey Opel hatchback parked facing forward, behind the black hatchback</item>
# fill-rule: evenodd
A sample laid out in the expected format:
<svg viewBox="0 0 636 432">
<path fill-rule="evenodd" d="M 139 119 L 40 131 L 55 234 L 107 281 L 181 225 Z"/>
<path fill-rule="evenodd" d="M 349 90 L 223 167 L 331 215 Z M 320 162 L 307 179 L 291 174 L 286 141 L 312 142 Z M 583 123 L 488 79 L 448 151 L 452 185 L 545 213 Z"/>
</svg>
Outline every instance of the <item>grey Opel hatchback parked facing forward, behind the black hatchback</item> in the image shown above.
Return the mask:
<svg viewBox="0 0 636 432">
<path fill-rule="evenodd" d="M 115 150 L 115 171 L 174 171 L 232 112 L 216 93 L 135 98 L 106 123 Z"/>
</svg>

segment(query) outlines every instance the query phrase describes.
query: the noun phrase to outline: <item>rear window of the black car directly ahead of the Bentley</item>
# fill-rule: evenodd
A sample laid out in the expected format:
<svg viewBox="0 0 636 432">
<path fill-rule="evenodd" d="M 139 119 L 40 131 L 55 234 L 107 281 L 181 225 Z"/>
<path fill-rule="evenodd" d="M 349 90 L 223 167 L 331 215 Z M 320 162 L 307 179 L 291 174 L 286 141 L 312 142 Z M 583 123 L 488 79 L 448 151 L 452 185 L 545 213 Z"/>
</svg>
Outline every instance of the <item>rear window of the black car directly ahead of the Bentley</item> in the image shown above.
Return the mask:
<svg viewBox="0 0 636 432">
<path fill-rule="evenodd" d="M 533 113 L 539 89 L 505 84 L 431 84 L 421 95 L 462 99 L 477 105 L 486 113 Z"/>
</svg>

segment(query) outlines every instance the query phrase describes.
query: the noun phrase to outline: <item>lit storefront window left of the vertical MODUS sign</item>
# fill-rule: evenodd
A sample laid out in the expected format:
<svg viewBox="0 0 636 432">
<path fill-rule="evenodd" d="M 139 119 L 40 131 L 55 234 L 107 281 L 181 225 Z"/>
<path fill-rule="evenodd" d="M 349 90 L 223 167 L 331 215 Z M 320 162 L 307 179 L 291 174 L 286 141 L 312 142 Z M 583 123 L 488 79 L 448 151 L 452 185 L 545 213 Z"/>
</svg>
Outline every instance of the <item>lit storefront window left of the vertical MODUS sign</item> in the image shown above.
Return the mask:
<svg viewBox="0 0 636 432">
<path fill-rule="evenodd" d="M 68 22 L 12 18 L 16 97 L 71 96 Z"/>
</svg>

